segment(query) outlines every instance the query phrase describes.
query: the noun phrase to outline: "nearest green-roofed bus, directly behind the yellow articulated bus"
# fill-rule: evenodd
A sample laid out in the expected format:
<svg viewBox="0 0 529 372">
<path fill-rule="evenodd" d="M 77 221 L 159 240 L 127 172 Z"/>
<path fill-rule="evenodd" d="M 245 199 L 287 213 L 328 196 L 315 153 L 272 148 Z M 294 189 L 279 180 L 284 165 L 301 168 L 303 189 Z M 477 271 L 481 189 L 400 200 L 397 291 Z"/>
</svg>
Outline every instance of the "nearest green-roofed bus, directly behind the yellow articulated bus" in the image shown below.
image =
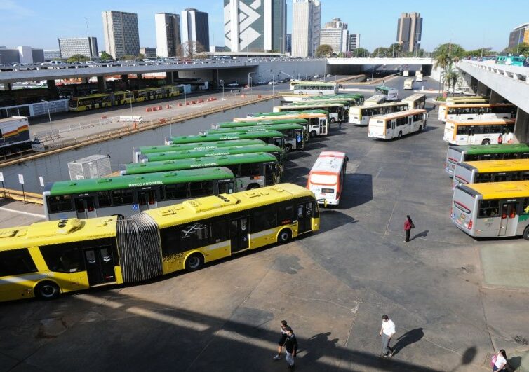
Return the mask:
<svg viewBox="0 0 529 372">
<path fill-rule="evenodd" d="M 48 221 L 89 219 L 173 205 L 187 198 L 233 193 L 235 177 L 226 167 L 156 172 L 46 184 L 44 214 Z"/>
</svg>

